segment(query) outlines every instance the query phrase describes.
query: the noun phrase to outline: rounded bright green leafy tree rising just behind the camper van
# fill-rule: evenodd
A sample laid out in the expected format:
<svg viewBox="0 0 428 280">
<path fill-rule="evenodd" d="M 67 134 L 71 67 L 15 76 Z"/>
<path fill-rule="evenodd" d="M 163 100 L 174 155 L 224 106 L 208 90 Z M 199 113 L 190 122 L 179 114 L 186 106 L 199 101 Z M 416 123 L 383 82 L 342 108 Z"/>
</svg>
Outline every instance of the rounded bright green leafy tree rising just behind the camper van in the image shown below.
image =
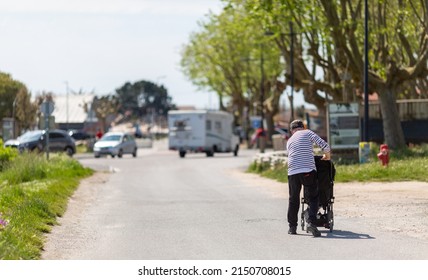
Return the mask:
<svg viewBox="0 0 428 280">
<path fill-rule="evenodd" d="M 200 89 L 215 92 L 220 110 L 233 111 L 241 124 L 249 123 L 249 112 L 257 109 L 273 131 L 283 91 L 276 80 L 283 66 L 265 28 L 232 4 L 199 27 L 183 48 L 183 73 Z"/>
</svg>

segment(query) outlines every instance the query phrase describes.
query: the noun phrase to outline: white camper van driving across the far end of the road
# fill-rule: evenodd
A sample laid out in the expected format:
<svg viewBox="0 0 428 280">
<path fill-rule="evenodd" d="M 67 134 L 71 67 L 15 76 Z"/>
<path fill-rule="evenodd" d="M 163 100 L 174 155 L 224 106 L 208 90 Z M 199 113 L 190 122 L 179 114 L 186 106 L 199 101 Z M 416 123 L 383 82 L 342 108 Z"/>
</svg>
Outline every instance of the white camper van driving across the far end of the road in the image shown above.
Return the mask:
<svg viewBox="0 0 428 280">
<path fill-rule="evenodd" d="M 233 116 L 227 112 L 183 110 L 168 112 L 169 149 L 185 157 L 187 152 L 233 152 L 238 155 L 239 137 L 233 133 Z"/>
</svg>

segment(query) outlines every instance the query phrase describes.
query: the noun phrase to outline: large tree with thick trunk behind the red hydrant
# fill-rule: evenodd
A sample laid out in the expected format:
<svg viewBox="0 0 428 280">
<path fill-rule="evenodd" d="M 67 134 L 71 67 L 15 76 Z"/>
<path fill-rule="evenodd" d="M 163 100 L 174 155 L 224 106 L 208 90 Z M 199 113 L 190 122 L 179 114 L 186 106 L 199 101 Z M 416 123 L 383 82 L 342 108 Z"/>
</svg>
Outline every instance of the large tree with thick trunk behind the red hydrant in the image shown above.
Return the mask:
<svg viewBox="0 0 428 280">
<path fill-rule="evenodd" d="M 349 61 L 349 72 L 359 82 L 363 55 L 353 46 L 363 41 L 362 24 L 348 28 L 335 27 L 349 21 L 354 15 L 360 19 L 362 5 L 342 3 L 334 6 L 320 1 L 324 11 L 330 11 L 327 23 L 332 27 L 332 38 L 340 55 Z M 340 12 L 346 9 L 347 13 Z M 404 134 L 396 107 L 396 99 L 405 93 L 411 82 L 425 79 L 428 59 L 427 7 L 424 1 L 375 1 L 370 6 L 370 73 L 369 87 L 377 92 L 383 117 L 384 135 L 392 148 L 405 146 Z M 343 25 L 343 24 L 342 24 Z M 356 46 L 355 46 L 356 48 Z M 343 67 L 343 62 L 339 65 Z"/>
</svg>

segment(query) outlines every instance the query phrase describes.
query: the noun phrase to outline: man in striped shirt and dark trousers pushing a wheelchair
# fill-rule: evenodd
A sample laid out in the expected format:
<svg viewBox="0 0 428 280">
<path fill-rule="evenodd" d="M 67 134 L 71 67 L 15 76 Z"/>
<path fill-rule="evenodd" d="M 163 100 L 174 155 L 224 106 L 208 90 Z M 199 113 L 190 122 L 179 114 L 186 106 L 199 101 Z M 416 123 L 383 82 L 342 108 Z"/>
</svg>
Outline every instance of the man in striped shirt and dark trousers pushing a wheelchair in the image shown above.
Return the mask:
<svg viewBox="0 0 428 280">
<path fill-rule="evenodd" d="M 324 155 L 322 160 L 330 160 L 330 146 L 315 132 L 305 129 L 301 120 L 290 124 L 291 137 L 287 141 L 288 150 L 288 234 L 296 234 L 300 191 L 304 186 L 305 198 L 309 201 L 309 219 L 307 231 L 314 237 L 321 233 L 314 224 L 318 211 L 318 185 L 313 145 L 319 146 Z"/>
</svg>

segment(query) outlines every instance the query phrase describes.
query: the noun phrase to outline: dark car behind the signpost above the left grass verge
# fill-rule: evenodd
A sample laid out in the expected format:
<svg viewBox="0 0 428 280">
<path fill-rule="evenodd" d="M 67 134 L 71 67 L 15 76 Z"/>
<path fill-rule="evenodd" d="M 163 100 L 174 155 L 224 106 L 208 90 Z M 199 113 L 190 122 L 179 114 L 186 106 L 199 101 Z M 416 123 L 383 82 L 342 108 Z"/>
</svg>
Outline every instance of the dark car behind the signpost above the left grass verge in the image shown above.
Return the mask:
<svg viewBox="0 0 428 280">
<path fill-rule="evenodd" d="M 27 131 L 18 138 L 18 141 L 18 149 L 20 152 L 43 152 L 46 149 L 46 131 Z M 73 156 L 76 153 L 76 144 L 74 139 L 71 138 L 64 130 L 49 130 L 49 152 L 64 152 L 69 156 Z"/>
</svg>

